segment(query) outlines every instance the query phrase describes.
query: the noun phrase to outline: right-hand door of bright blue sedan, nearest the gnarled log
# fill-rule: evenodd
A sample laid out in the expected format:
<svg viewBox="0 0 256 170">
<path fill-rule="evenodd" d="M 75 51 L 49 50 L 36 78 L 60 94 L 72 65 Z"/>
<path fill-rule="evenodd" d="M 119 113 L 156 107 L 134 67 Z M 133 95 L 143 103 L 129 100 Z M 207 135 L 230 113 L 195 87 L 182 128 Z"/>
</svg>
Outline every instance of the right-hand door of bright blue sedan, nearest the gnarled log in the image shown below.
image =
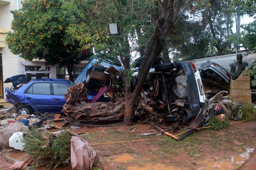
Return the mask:
<svg viewBox="0 0 256 170">
<path fill-rule="evenodd" d="M 52 83 L 52 97 L 53 97 L 53 105 L 52 110 L 55 113 L 61 113 L 61 110 L 63 109 L 63 105 L 66 103 L 66 99 L 64 98 L 64 94 L 67 94 L 67 89 L 70 88 L 70 86 L 53 82 Z"/>
</svg>

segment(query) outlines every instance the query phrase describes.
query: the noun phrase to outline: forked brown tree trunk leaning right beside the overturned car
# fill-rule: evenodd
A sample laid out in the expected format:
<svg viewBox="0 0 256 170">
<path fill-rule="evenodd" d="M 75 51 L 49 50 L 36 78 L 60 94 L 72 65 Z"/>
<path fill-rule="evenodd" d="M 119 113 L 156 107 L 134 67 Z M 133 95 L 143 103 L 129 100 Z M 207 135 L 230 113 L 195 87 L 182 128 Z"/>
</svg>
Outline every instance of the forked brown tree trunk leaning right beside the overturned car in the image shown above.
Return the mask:
<svg viewBox="0 0 256 170">
<path fill-rule="evenodd" d="M 181 10 L 181 7 L 186 2 L 187 0 L 164 0 L 161 3 L 161 7 L 157 8 L 157 18 L 160 19 L 157 20 L 157 25 L 154 31 L 152 31 L 151 33 L 150 40 L 148 40 L 145 55 L 139 67 L 137 85 L 135 86 L 135 89 L 132 93 L 131 88 L 127 87 L 127 82 L 125 83 L 125 120 L 127 120 L 126 123 L 130 123 L 131 118 L 133 118 L 134 116 L 136 99 L 140 95 L 141 89 L 143 88 L 143 83 L 148 75 L 148 71 L 154 60 L 157 59 L 157 57 L 163 50 L 167 34 L 179 19 L 178 14 L 185 11 L 185 8 Z M 125 41 L 126 43 L 128 43 L 127 38 Z M 125 52 L 129 52 L 129 50 L 127 49 L 127 51 Z M 129 59 L 122 55 L 120 55 L 120 58 L 124 64 L 125 70 L 128 70 L 130 68 Z M 126 78 L 125 81 L 127 81 Z"/>
</svg>

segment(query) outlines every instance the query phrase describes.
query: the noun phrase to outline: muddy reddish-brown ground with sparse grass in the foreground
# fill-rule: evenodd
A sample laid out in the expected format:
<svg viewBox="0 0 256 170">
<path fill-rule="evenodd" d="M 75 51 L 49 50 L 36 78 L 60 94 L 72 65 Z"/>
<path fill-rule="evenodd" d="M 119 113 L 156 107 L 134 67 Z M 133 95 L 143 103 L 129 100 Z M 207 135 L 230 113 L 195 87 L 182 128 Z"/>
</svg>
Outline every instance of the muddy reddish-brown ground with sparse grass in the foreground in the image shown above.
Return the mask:
<svg viewBox="0 0 256 170">
<path fill-rule="evenodd" d="M 88 132 L 82 137 L 92 144 L 105 170 L 252 170 L 256 167 L 256 122 L 231 124 L 221 131 L 195 130 L 182 141 L 163 135 L 141 136 L 157 133 L 150 127 L 142 124 L 80 130 Z M 133 140 L 142 141 L 125 142 Z M 102 144 L 107 142 L 110 144 Z"/>
</svg>

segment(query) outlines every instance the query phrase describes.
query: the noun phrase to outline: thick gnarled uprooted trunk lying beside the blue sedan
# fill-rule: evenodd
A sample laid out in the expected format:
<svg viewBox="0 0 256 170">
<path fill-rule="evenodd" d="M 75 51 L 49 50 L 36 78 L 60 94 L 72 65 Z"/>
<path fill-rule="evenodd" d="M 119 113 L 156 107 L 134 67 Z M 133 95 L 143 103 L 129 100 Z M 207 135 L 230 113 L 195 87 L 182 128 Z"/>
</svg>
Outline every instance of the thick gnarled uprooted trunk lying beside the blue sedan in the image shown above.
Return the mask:
<svg viewBox="0 0 256 170">
<path fill-rule="evenodd" d="M 115 103 L 87 103 L 87 90 L 83 83 L 70 87 L 64 97 L 67 102 L 63 106 L 62 113 L 74 119 L 120 119 L 124 116 L 124 109 L 121 108 L 123 100 Z"/>
</svg>

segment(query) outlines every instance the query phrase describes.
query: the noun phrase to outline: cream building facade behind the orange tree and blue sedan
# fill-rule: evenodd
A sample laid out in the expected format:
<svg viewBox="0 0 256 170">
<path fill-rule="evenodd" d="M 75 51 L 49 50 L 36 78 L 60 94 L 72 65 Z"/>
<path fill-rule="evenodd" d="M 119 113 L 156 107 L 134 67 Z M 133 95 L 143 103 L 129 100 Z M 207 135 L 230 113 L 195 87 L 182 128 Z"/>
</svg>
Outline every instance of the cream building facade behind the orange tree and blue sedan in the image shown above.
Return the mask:
<svg viewBox="0 0 256 170">
<path fill-rule="evenodd" d="M 12 54 L 7 46 L 6 33 L 11 30 L 13 16 L 11 10 L 20 8 L 20 0 L 0 0 L 0 99 L 5 97 L 4 88 L 12 87 L 12 83 L 3 83 L 8 77 L 18 74 L 26 74 L 28 80 L 36 78 L 69 79 L 65 67 L 45 65 L 44 60 L 34 59 L 27 61 Z M 87 61 L 75 65 L 73 74 L 79 74 Z"/>
</svg>

